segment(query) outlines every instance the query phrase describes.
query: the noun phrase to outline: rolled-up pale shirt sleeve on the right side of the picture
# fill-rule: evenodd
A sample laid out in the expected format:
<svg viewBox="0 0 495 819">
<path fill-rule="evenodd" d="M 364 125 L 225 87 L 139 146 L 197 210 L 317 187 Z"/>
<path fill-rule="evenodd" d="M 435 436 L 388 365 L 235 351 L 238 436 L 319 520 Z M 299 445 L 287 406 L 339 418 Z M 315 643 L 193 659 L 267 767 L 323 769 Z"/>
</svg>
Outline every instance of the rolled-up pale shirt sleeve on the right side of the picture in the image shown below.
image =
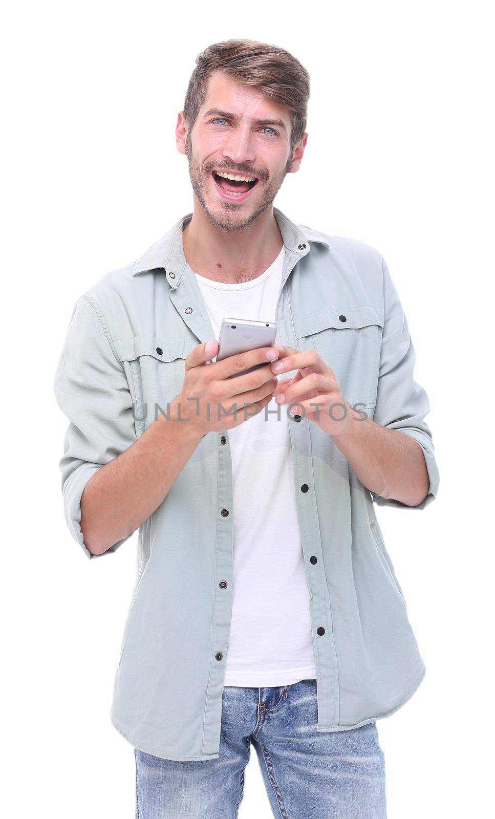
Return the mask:
<svg viewBox="0 0 495 819">
<path fill-rule="evenodd" d="M 425 500 L 408 506 L 400 500 L 384 498 L 371 492 L 379 506 L 400 506 L 402 509 L 424 509 L 437 496 L 440 480 L 434 444 L 425 415 L 429 400 L 423 387 L 414 380 L 416 354 L 406 316 L 397 295 L 387 265 L 382 258 L 384 274 L 384 333 L 380 354 L 379 382 L 373 419 L 388 429 L 396 429 L 414 438 L 423 450 L 429 475 L 429 491 Z"/>
</svg>

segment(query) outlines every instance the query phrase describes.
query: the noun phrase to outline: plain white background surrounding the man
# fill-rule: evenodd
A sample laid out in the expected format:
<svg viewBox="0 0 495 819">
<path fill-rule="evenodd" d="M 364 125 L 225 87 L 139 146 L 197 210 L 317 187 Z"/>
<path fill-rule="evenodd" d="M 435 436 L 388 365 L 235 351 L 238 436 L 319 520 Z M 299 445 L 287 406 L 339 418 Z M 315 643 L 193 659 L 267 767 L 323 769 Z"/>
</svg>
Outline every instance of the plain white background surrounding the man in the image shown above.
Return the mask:
<svg viewBox="0 0 495 819">
<path fill-rule="evenodd" d="M 192 210 L 177 114 L 198 52 L 233 37 L 276 43 L 309 70 L 306 153 L 275 205 L 383 253 L 432 407 L 438 500 L 377 509 L 428 669 L 377 723 L 388 817 L 485 816 L 493 27 L 488 3 L 432 0 L 175 10 L 47 0 L 4 18 L 2 812 L 134 819 L 134 751 L 109 711 L 136 536 L 95 561 L 71 540 L 52 378 L 79 295 Z M 272 814 L 252 749 L 239 816 L 255 815 Z"/>
</svg>

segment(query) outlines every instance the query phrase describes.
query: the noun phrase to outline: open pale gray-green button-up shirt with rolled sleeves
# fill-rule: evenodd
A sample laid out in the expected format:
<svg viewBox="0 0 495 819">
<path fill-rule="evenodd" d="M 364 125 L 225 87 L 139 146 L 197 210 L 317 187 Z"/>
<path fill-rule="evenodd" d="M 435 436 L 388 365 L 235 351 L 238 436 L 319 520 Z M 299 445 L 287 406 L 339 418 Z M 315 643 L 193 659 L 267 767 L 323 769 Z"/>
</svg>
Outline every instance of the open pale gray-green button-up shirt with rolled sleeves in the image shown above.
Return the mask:
<svg viewBox="0 0 495 819">
<path fill-rule="evenodd" d="M 382 498 L 361 484 L 332 437 L 303 414 L 288 414 L 316 731 L 346 731 L 388 717 L 425 674 L 375 505 L 424 509 L 437 495 L 429 401 L 414 381 L 406 317 L 379 252 L 294 224 L 278 208 L 274 214 L 285 247 L 278 341 L 315 349 L 351 405 L 418 441 L 429 473 L 420 505 Z M 68 527 L 89 559 L 114 554 L 132 533 L 91 554 L 79 525 L 84 486 L 166 413 L 182 387 L 186 355 L 215 337 L 184 258 L 182 230 L 191 217 L 134 264 L 99 278 L 70 319 L 54 381 L 70 422 L 61 483 Z M 139 527 L 110 717 L 129 743 L 157 757 L 219 757 L 234 514 L 229 433 L 210 432 Z"/>
</svg>

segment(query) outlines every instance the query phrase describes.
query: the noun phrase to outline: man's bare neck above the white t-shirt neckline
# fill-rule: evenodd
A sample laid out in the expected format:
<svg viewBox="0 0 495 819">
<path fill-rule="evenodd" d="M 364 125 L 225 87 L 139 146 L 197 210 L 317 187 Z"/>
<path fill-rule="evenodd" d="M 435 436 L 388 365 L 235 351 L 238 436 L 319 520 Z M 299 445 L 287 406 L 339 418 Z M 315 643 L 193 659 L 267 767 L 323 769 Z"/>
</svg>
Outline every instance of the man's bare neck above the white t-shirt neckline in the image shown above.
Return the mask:
<svg viewBox="0 0 495 819">
<path fill-rule="evenodd" d="M 273 206 L 247 228 L 228 232 L 211 224 L 202 206 L 194 201 L 193 218 L 182 236 L 184 257 L 194 273 L 229 284 L 260 276 L 284 246 Z"/>
</svg>

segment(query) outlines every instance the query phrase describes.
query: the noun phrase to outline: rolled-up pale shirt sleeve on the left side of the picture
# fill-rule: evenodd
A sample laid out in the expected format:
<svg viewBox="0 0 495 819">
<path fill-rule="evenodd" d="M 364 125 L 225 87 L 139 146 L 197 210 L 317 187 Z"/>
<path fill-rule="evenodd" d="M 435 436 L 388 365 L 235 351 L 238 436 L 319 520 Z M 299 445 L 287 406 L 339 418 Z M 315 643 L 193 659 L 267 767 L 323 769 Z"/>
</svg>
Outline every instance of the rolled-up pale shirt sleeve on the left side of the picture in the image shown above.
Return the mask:
<svg viewBox="0 0 495 819">
<path fill-rule="evenodd" d="M 115 552 L 133 532 L 92 554 L 81 532 L 81 496 L 98 469 L 136 440 L 132 397 L 111 346 L 105 320 L 90 294 L 79 297 L 67 328 L 53 390 L 69 419 L 59 466 L 66 523 L 89 559 Z"/>
</svg>

